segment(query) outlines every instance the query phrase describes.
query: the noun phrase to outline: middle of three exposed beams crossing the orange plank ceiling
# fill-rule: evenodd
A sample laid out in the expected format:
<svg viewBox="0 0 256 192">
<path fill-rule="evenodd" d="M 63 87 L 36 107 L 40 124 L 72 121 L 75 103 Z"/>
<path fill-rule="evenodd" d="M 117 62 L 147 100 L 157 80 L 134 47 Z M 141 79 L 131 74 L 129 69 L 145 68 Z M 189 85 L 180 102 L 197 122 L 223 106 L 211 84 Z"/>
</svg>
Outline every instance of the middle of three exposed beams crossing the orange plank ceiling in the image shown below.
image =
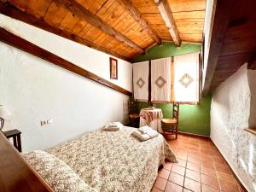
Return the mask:
<svg viewBox="0 0 256 192">
<path fill-rule="evenodd" d="M 154 32 L 154 29 L 151 26 L 149 26 L 146 20 L 143 19 L 143 16 L 139 12 L 139 10 L 133 6 L 133 4 L 131 3 L 131 0 L 118 0 L 118 1 L 124 7 L 124 9 L 131 14 L 133 19 L 140 24 L 143 30 L 145 30 L 148 33 L 148 35 L 154 39 L 156 44 L 162 43 L 158 34 Z"/>
</svg>

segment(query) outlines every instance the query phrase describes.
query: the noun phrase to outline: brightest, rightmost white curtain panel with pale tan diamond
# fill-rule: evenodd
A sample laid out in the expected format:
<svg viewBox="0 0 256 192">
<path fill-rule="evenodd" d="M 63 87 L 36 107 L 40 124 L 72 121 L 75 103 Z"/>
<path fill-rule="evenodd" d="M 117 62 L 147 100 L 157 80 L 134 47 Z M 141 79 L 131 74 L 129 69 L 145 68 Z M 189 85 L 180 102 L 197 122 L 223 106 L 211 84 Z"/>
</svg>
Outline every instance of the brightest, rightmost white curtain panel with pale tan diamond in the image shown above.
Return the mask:
<svg viewBox="0 0 256 192">
<path fill-rule="evenodd" d="M 199 102 L 199 53 L 174 56 L 174 101 Z"/>
</svg>

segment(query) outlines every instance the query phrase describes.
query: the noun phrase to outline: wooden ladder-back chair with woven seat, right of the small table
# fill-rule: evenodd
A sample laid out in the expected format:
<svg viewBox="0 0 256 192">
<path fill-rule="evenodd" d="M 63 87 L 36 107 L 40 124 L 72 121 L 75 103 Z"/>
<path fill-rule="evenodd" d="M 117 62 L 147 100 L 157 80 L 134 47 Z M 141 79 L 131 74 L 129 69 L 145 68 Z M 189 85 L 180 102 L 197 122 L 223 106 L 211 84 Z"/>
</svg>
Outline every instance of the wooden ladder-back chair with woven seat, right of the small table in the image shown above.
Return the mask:
<svg viewBox="0 0 256 192">
<path fill-rule="evenodd" d="M 172 119 L 162 119 L 162 130 L 164 135 L 176 135 L 177 139 L 177 128 L 178 128 L 178 114 L 179 114 L 179 103 L 173 103 L 172 108 Z"/>
</svg>

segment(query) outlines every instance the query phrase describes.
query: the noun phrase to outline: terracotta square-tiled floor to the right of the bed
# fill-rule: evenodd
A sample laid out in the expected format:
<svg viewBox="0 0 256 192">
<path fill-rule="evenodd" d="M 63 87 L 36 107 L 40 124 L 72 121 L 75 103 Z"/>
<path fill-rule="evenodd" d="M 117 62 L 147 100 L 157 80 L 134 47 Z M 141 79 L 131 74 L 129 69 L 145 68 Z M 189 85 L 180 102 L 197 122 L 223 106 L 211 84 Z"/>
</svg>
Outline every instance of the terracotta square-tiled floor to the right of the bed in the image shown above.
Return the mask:
<svg viewBox="0 0 256 192">
<path fill-rule="evenodd" d="M 178 135 L 168 143 L 178 163 L 166 161 L 151 192 L 243 192 L 210 139 Z"/>
</svg>

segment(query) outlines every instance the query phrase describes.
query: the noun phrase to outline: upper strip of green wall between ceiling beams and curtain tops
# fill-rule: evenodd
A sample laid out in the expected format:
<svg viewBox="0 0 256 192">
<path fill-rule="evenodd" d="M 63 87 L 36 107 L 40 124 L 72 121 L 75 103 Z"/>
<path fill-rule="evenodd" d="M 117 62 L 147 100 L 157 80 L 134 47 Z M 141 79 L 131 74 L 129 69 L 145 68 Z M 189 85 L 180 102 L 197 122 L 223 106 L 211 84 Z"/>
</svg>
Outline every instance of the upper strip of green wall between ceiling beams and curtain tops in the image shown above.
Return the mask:
<svg viewBox="0 0 256 192">
<path fill-rule="evenodd" d="M 137 55 L 131 60 L 131 62 L 149 61 L 173 55 L 188 54 L 196 51 L 201 51 L 201 44 L 181 44 L 181 47 L 177 48 L 173 42 L 163 42 L 161 45 L 154 45 L 147 49 L 146 54 Z"/>
</svg>

